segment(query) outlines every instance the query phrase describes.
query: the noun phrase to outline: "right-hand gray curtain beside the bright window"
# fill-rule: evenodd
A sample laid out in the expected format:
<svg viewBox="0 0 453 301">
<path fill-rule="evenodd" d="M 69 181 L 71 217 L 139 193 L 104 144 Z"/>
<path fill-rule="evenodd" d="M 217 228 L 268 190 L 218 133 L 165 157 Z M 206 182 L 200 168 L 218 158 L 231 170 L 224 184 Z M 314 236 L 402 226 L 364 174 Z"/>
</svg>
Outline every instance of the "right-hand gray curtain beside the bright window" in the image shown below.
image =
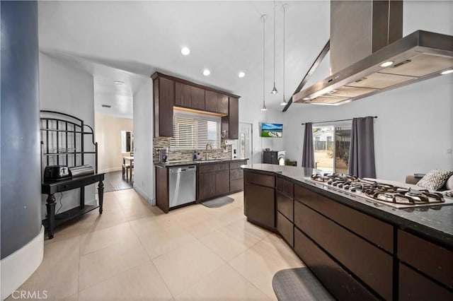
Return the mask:
<svg viewBox="0 0 453 301">
<path fill-rule="evenodd" d="M 373 117 L 352 119 L 348 172 L 357 177 L 376 177 Z"/>
</svg>

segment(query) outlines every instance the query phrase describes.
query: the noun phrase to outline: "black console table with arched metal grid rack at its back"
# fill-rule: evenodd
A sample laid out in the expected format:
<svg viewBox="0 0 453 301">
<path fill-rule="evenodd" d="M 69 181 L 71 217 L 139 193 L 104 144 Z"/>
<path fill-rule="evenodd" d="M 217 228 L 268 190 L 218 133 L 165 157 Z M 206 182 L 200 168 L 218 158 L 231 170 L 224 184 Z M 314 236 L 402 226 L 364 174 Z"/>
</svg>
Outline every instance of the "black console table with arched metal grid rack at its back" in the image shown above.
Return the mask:
<svg viewBox="0 0 453 301">
<path fill-rule="evenodd" d="M 47 218 L 42 224 L 48 230 L 48 237 L 54 237 L 54 229 L 77 216 L 99 208 L 102 213 L 104 175 L 98 173 L 98 143 L 94 141 L 94 131 L 91 126 L 78 117 L 55 111 L 42 110 L 40 118 L 42 168 L 50 165 L 79 167 L 85 165 L 86 156 L 94 156 L 94 172 L 89 175 L 74 175 L 66 178 L 43 178 L 41 193 L 47 194 Z M 91 143 L 88 139 L 91 136 Z M 86 141 L 87 140 L 87 141 Z M 91 146 L 90 146 L 91 144 Z M 98 184 L 99 206 L 85 205 L 85 187 Z M 55 193 L 80 189 L 80 205 L 55 215 Z"/>
</svg>

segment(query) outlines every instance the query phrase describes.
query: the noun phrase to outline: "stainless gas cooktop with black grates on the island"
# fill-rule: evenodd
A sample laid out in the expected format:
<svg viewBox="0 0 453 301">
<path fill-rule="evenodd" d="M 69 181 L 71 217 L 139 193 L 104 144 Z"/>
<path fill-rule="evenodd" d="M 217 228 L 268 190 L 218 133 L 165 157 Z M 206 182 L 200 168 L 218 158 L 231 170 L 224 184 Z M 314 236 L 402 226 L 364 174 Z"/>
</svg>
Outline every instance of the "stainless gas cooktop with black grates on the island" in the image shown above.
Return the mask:
<svg viewBox="0 0 453 301">
<path fill-rule="evenodd" d="M 444 195 L 428 189 L 397 187 L 372 179 L 360 179 L 352 175 L 316 174 L 306 179 L 343 194 L 362 196 L 394 208 L 453 205 L 453 197 L 448 194 Z"/>
</svg>

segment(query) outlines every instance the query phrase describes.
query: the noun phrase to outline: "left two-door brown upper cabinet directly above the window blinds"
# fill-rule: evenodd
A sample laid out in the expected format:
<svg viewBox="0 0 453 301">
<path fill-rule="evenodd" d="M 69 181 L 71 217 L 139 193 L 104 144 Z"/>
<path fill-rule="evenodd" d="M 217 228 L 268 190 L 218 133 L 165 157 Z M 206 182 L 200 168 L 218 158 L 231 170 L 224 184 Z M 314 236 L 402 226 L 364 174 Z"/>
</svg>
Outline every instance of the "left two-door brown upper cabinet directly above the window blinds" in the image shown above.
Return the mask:
<svg viewBox="0 0 453 301">
<path fill-rule="evenodd" d="M 184 83 L 175 83 L 175 106 L 204 111 L 205 90 Z"/>
</svg>

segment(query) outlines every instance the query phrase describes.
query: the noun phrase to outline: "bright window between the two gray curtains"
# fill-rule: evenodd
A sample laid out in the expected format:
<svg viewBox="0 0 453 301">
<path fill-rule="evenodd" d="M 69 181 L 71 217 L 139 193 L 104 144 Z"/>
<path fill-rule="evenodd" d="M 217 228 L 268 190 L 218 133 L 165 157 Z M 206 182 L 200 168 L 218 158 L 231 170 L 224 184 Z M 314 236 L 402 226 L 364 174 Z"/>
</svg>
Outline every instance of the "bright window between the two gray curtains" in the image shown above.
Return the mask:
<svg viewBox="0 0 453 301">
<path fill-rule="evenodd" d="M 314 126 L 314 161 L 323 172 L 348 173 L 351 126 Z"/>
</svg>

